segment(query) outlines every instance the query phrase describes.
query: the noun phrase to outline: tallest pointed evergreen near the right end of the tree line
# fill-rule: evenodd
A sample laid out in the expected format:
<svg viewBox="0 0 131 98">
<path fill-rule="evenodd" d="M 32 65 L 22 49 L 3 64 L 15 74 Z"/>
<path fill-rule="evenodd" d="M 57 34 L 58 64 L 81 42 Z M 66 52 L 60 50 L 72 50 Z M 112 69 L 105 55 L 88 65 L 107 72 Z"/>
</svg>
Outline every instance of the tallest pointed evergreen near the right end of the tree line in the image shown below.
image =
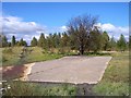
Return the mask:
<svg viewBox="0 0 131 98">
<path fill-rule="evenodd" d="M 118 49 L 124 51 L 127 48 L 127 41 L 124 36 L 121 34 L 119 40 L 117 41 Z"/>
</svg>

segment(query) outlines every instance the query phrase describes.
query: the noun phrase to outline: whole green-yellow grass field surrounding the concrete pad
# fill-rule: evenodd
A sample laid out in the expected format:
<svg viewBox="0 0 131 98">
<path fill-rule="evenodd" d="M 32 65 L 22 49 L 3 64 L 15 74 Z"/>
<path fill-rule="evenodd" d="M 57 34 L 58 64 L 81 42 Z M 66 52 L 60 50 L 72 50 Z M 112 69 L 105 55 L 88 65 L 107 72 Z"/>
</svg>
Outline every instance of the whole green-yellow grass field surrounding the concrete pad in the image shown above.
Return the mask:
<svg viewBox="0 0 131 98">
<path fill-rule="evenodd" d="M 32 50 L 26 53 L 25 62 L 37 62 L 45 60 L 58 59 L 67 54 L 46 52 L 40 48 L 28 48 Z M 3 66 L 5 65 L 19 65 L 19 56 L 22 52 L 22 47 L 15 47 L 13 49 L 3 49 Z M 105 71 L 103 79 L 93 87 L 93 93 L 98 96 L 128 96 L 129 95 L 129 52 L 112 52 L 112 53 L 88 53 L 87 56 L 111 56 L 112 59 Z M 39 84 L 28 84 L 22 82 L 9 83 L 11 89 L 5 95 L 8 96 L 73 96 L 76 94 L 76 87 L 72 85 L 61 85 L 53 87 L 45 87 Z M 130 87 L 131 88 L 131 87 Z M 19 89 L 19 90 L 17 90 Z M 26 91 L 26 90 L 27 91 Z"/>
</svg>

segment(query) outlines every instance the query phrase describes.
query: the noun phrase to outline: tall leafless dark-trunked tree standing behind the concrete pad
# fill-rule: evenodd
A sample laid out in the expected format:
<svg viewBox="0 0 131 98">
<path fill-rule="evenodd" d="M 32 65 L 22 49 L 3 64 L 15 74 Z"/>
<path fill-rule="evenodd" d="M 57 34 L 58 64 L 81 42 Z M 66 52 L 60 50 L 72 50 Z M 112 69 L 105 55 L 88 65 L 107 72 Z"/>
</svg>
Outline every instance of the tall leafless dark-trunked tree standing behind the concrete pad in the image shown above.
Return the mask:
<svg viewBox="0 0 131 98">
<path fill-rule="evenodd" d="M 97 23 L 97 17 L 92 15 L 81 15 L 69 21 L 68 33 L 72 36 L 80 54 L 83 54 L 88 45 L 90 33 Z"/>
</svg>

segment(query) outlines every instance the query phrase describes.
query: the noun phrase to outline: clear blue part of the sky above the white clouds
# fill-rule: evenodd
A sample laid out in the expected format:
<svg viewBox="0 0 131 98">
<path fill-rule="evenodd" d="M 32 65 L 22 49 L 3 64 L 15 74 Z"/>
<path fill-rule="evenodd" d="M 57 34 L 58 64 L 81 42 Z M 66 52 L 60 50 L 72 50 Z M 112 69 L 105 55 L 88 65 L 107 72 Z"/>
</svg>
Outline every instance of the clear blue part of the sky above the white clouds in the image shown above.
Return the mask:
<svg viewBox="0 0 131 98">
<path fill-rule="evenodd" d="M 64 25 L 69 19 L 81 14 L 98 15 L 99 22 L 116 26 L 127 26 L 129 22 L 129 7 L 126 2 L 8 2 L 2 5 L 5 14 L 48 26 Z"/>
</svg>

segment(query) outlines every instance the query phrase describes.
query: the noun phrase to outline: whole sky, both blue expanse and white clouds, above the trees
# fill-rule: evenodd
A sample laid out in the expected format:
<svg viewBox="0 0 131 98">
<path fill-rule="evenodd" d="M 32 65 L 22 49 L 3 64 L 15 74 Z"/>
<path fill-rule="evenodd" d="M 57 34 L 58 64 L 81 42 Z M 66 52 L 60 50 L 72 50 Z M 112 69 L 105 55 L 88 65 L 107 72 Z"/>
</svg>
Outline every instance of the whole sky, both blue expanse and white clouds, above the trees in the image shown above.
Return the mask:
<svg viewBox="0 0 131 98">
<path fill-rule="evenodd" d="M 67 30 L 68 21 L 82 14 L 97 15 L 98 25 L 110 37 L 118 39 L 123 34 L 128 39 L 128 2 L 3 2 L 0 25 L 9 40 L 14 35 L 29 42 L 40 33 Z"/>
</svg>

